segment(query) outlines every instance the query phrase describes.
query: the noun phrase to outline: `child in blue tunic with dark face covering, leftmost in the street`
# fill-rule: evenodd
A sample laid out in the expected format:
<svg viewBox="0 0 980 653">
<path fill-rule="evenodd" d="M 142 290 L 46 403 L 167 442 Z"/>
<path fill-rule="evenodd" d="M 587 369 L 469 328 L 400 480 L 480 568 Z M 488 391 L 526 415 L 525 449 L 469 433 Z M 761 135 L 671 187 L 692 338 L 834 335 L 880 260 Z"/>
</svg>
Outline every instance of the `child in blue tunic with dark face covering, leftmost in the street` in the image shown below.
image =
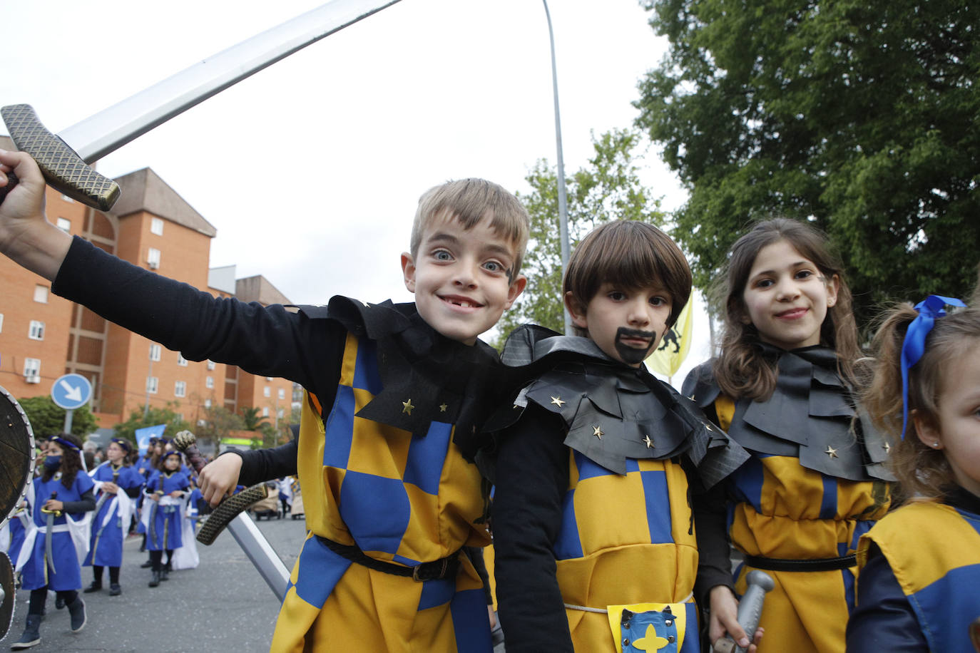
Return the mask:
<svg viewBox="0 0 980 653">
<path fill-rule="evenodd" d="M 41 641 L 39 627 L 44 615 L 48 590 L 65 601 L 72 617 L 72 631 L 85 626 L 85 604 L 78 595 L 81 569 L 78 547 L 84 551 L 84 513 L 95 508 L 92 480 L 82 470 L 81 441 L 69 434 L 46 443 L 44 472 L 33 482 L 32 521 L 17 569 L 21 587 L 30 590 L 26 628 L 11 648 L 20 650 Z M 48 517 L 52 523 L 48 525 Z M 49 532 L 50 529 L 50 532 Z"/>
</svg>

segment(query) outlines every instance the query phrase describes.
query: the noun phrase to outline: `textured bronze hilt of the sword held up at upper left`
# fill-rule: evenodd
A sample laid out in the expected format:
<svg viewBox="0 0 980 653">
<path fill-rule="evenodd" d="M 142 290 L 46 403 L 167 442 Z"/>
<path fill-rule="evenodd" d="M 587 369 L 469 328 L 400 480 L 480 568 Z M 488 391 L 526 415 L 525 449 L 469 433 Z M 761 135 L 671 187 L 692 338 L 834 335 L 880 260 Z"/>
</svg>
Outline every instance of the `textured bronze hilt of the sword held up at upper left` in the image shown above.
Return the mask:
<svg viewBox="0 0 980 653">
<path fill-rule="evenodd" d="M 120 185 L 93 170 L 57 134 L 52 134 L 30 105 L 0 109 L 10 137 L 41 168 L 48 184 L 73 200 L 98 210 L 110 210 L 120 197 Z M 0 202 L 16 183 L 0 189 Z"/>
</svg>

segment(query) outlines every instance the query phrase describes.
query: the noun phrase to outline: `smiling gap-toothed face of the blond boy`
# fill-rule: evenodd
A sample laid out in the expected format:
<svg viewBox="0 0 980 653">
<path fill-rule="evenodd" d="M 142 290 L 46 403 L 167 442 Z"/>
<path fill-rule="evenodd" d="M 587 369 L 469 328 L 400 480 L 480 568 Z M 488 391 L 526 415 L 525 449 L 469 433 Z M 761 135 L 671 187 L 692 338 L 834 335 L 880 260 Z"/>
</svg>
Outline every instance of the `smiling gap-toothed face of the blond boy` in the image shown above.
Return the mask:
<svg viewBox="0 0 980 653">
<path fill-rule="evenodd" d="M 493 327 L 524 290 L 515 276 L 515 244 L 480 220 L 471 229 L 453 216 L 436 216 L 415 255 L 402 255 L 405 287 L 418 314 L 443 336 L 466 345 Z"/>
</svg>

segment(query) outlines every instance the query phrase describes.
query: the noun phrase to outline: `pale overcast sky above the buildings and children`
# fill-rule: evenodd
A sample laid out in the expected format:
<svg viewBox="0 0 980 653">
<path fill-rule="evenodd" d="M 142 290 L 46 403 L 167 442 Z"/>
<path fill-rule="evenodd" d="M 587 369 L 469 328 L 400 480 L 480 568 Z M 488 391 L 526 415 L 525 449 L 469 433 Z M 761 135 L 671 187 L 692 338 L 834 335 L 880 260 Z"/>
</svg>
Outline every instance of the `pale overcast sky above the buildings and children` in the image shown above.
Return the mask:
<svg viewBox="0 0 980 653">
<path fill-rule="evenodd" d="M 0 103 L 32 105 L 57 133 L 320 4 L 4 3 Z M 587 163 L 590 132 L 632 124 L 636 83 L 660 62 L 665 41 L 636 0 L 549 7 L 571 173 Z M 402 0 L 173 118 L 98 168 L 119 176 L 152 167 L 218 229 L 213 267 L 262 274 L 295 303 L 336 294 L 402 302 L 412 296 L 399 255 L 418 196 L 469 176 L 527 191 L 527 170 L 556 160 L 554 119 L 541 2 Z M 656 152 L 644 161 L 643 179 L 663 206 L 681 204 L 685 195 Z M 707 355 L 701 331 L 691 363 Z"/>
</svg>

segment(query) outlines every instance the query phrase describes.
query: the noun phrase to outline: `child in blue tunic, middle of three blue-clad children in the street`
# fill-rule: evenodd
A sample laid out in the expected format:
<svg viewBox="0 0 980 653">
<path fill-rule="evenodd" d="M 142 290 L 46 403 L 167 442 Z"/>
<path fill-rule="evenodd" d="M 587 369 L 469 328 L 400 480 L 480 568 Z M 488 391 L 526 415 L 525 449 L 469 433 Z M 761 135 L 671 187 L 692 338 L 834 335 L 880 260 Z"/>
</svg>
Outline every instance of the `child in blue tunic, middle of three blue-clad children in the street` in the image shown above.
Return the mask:
<svg viewBox="0 0 980 653">
<path fill-rule="evenodd" d="M 109 595 L 123 593 L 120 567 L 123 565 L 123 541 L 129 530 L 129 519 L 135 509 L 135 498 L 143 487 L 143 476 L 126 461 L 132 444 L 114 438 L 106 450 L 106 462 L 89 476 L 95 481 L 96 511 L 92 517 L 88 555 L 82 566 L 92 567 L 92 583 L 85 593 L 102 589 L 102 569 L 109 567 Z"/>
</svg>

